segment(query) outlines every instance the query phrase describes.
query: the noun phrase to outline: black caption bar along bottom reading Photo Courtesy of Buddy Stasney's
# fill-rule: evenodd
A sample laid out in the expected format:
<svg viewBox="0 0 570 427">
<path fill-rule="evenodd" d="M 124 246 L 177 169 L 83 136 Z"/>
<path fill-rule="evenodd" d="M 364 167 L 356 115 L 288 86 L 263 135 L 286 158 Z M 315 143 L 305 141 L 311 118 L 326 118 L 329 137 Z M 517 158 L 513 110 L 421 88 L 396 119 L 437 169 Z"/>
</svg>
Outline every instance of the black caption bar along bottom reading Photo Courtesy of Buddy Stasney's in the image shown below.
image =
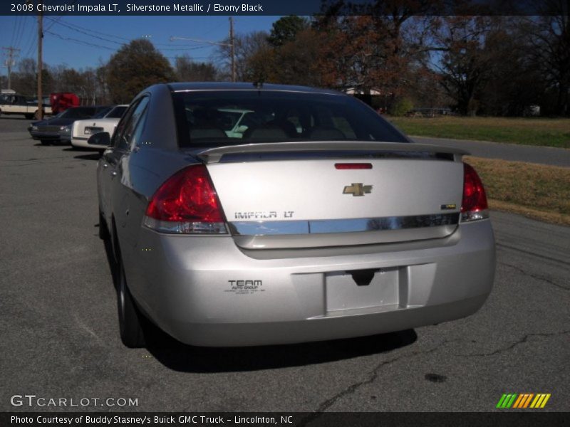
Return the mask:
<svg viewBox="0 0 570 427">
<path fill-rule="evenodd" d="M 223 420 L 223 423 L 219 420 Z M 90 422 L 87 422 L 87 421 Z M 215 421 L 217 420 L 217 421 Z M 0 426 L 239 426 L 239 427 L 379 427 L 379 426 L 495 426 L 557 427 L 568 425 L 570 414 L 541 409 L 499 413 L 426 412 L 2 412 Z"/>
</svg>

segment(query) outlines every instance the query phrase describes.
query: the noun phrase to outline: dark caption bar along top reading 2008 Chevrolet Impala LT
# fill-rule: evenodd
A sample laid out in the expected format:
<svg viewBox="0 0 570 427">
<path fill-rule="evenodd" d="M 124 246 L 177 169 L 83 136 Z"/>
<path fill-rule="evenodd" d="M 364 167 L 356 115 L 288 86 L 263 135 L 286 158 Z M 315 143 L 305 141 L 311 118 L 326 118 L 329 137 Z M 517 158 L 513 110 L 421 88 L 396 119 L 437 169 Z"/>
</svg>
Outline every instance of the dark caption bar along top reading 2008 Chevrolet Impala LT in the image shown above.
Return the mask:
<svg viewBox="0 0 570 427">
<path fill-rule="evenodd" d="M 66 16 L 311 16 L 330 11 L 337 15 L 560 14 L 552 5 L 551 0 L 4 0 L 0 15 L 37 15 L 38 7 L 44 15 Z M 562 13 L 569 14 L 567 4 Z"/>
</svg>

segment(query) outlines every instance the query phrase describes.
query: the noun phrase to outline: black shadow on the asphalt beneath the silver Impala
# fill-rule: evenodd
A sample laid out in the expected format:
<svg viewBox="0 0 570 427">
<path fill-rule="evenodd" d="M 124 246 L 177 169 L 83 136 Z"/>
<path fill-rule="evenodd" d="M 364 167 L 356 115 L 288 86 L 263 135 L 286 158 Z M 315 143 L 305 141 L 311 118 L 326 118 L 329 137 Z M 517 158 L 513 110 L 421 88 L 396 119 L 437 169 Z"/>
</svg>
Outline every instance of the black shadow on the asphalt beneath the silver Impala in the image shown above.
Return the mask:
<svg viewBox="0 0 570 427">
<path fill-rule="evenodd" d="M 100 226 L 96 224 L 95 227 Z M 110 241 L 103 241 L 113 286 L 117 289 L 118 265 Z M 336 362 L 353 357 L 381 354 L 413 344 L 415 330 L 376 334 L 369 337 L 335 339 L 303 344 L 257 347 L 195 347 L 170 337 L 146 321 L 147 351 L 165 367 L 175 371 L 214 373 L 257 371 Z M 118 325 L 117 325 L 118 328 Z"/>
</svg>

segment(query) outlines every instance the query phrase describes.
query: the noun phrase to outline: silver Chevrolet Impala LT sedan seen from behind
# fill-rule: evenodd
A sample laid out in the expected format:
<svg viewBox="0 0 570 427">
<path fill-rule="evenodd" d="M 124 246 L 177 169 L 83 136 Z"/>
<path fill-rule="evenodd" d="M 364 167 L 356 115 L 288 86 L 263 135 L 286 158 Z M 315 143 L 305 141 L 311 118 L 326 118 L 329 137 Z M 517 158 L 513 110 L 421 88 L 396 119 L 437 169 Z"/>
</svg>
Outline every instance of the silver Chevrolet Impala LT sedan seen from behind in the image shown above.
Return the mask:
<svg viewBox="0 0 570 427">
<path fill-rule="evenodd" d="M 414 144 L 331 90 L 142 91 L 98 163 L 120 336 L 200 346 L 406 330 L 476 312 L 494 237 L 459 149 Z M 94 141 L 100 143 L 100 141 Z"/>
</svg>

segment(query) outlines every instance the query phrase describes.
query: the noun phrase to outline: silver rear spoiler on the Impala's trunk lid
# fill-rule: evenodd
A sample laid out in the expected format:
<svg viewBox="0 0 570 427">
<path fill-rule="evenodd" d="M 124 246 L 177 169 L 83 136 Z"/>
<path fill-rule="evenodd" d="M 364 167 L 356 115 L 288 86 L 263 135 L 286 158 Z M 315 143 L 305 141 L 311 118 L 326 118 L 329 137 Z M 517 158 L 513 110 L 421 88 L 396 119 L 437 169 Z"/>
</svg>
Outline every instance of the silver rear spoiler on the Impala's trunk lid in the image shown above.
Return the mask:
<svg viewBox="0 0 570 427">
<path fill-rule="evenodd" d="M 463 149 L 441 147 L 410 142 L 269 142 L 261 144 L 227 145 L 202 150 L 192 150 L 192 154 L 204 163 L 218 163 L 226 154 L 263 154 L 277 152 L 346 152 L 346 154 L 403 153 L 418 152 L 430 154 L 453 154 L 455 159 L 469 154 Z"/>
</svg>

